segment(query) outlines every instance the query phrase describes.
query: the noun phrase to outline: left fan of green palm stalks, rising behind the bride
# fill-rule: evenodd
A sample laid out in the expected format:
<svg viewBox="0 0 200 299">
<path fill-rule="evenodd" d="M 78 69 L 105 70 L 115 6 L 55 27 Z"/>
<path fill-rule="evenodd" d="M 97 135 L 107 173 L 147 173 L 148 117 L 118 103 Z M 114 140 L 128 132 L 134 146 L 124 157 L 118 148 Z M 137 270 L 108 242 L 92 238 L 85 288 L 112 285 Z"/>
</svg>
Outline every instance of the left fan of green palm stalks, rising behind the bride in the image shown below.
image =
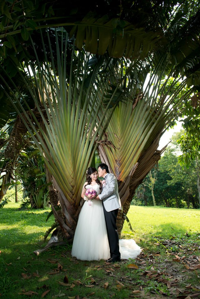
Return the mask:
<svg viewBox="0 0 200 299">
<path fill-rule="evenodd" d="M 22 76 L 42 121 L 38 120 L 28 105 L 27 113 L 17 97 L 15 100 L 23 114 L 12 102 L 12 97 L 10 100 L 44 157 L 53 177 L 53 185 L 59 191 L 65 221 L 53 207 L 54 214 L 66 235 L 73 236 L 81 207 L 80 194 L 85 172 L 92 163 L 97 147 L 95 141 L 100 139 L 112 111 L 120 101 L 117 92 L 120 84 L 126 81 L 128 72 L 110 93 L 110 81 L 118 65 L 117 59 L 112 60 L 105 56 L 91 61 L 92 56 L 89 53 L 84 49 L 77 51 L 75 45 L 68 43 L 66 31 L 61 32 L 61 43 L 58 42 L 56 32 L 56 67 L 52 52 L 51 62 L 46 57 L 46 62 L 41 64 L 35 50 L 36 62 L 27 61 L 27 69 L 24 69 L 27 80 Z M 41 40 L 43 42 L 42 35 Z M 32 46 L 34 48 L 34 45 Z M 43 47 L 45 53 L 44 43 Z M 50 43 L 49 48 L 51 49 Z M 70 55 L 71 59 L 70 69 L 66 64 L 69 59 L 67 55 Z M 2 80 L 6 85 L 5 78 Z M 13 84 L 12 81 L 11 83 Z M 16 86 L 14 88 L 17 89 Z M 20 90 L 17 91 L 26 103 Z M 8 93 L 7 96 L 9 97 Z M 103 107 L 104 98 L 107 102 Z M 112 108 L 109 109 L 110 107 Z M 98 120 L 100 109 L 102 114 Z"/>
</svg>

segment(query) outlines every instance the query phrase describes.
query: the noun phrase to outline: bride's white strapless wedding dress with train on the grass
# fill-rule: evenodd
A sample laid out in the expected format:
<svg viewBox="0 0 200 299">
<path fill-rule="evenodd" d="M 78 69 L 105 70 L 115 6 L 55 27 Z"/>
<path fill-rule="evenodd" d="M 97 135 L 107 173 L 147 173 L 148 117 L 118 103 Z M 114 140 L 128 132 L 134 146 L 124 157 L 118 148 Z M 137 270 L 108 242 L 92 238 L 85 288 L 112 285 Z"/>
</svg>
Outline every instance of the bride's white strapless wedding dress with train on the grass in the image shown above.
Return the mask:
<svg viewBox="0 0 200 299">
<path fill-rule="evenodd" d="M 100 186 L 86 185 L 92 187 L 100 194 Z M 140 247 L 134 240 L 120 240 L 121 259 L 134 259 L 141 252 Z M 110 258 L 104 211 L 101 200 L 85 201 L 79 214 L 78 223 L 74 235 L 71 255 L 77 259 L 92 261 Z"/>
</svg>

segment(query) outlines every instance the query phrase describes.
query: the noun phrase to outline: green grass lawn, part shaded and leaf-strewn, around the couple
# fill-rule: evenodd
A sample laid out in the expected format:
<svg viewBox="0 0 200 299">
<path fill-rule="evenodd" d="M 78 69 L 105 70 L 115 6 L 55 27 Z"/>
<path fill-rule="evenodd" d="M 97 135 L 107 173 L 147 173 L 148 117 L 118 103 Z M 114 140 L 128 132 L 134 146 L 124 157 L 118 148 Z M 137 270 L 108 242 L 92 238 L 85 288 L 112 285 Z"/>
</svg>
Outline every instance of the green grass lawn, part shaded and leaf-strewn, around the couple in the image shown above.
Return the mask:
<svg viewBox="0 0 200 299">
<path fill-rule="evenodd" d="M 19 211 L 19 205 L 9 202 L 0 209 L 2 298 L 29 298 L 30 291 L 34 292 L 32 298 L 46 299 L 153 299 L 162 297 L 161 293 L 176 298 L 177 288 L 189 294 L 200 293 L 200 210 L 131 206 L 127 216 L 134 233 L 125 222 L 122 237 L 134 238 L 143 253 L 139 259 L 109 266 L 103 260 L 71 258 L 70 244 L 53 247 L 38 256 L 33 254 L 46 245 L 43 235 L 54 219 L 51 216 L 46 222 L 49 208 Z M 136 267 L 129 268 L 129 264 Z M 64 281 L 66 285 L 62 285 Z M 170 288 L 171 284 L 176 286 Z M 190 284 L 196 290 L 185 288 Z"/>
</svg>

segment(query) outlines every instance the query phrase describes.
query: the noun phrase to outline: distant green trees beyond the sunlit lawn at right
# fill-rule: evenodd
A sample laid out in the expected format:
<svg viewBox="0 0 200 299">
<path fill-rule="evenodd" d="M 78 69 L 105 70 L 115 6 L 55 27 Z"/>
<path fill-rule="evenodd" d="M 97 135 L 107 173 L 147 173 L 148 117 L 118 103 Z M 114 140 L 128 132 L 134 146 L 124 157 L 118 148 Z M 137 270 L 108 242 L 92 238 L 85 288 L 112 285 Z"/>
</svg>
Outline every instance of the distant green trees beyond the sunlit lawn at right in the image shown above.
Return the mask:
<svg viewBox="0 0 200 299">
<path fill-rule="evenodd" d="M 181 130 L 172 136 L 172 145 L 168 146 L 158 162 L 157 181 L 154 186 L 157 205 L 177 208 L 199 207 L 196 164 L 193 161 L 187 168 L 186 166 L 181 167 L 179 163 L 182 148 L 178 140 L 184 136 L 183 133 L 184 130 Z M 149 183 L 149 176 L 147 176 L 144 183 L 137 189 L 133 200 L 134 204 L 144 205 L 145 198 L 148 205 L 153 205 L 151 192 L 144 187 Z"/>
</svg>

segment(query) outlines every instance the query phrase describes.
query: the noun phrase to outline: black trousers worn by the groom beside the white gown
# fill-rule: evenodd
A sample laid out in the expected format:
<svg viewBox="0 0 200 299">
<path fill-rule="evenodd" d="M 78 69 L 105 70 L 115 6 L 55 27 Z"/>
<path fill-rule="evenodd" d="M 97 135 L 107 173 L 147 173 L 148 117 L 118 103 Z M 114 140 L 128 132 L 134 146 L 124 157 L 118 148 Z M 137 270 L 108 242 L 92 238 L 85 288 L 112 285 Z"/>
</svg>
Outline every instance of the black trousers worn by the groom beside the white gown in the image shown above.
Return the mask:
<svg viewBox="0 0 200 299">
<path fill-rule="evenodd" d="M 118 209 L 107 212 L 105 210 L 104 204 L 103 204 L 103 209 L 104 209 L 105 223 L 106 223 L 106 228 L 108 233 L 108 242 L 110 246 L 110 257 L 114 259 L 120 259 L 121 255 L 120 255 L 120 248 L 119 248 L 119 236 L 118 236 L 117 225 L 116 225 Z"/>
</svg>

